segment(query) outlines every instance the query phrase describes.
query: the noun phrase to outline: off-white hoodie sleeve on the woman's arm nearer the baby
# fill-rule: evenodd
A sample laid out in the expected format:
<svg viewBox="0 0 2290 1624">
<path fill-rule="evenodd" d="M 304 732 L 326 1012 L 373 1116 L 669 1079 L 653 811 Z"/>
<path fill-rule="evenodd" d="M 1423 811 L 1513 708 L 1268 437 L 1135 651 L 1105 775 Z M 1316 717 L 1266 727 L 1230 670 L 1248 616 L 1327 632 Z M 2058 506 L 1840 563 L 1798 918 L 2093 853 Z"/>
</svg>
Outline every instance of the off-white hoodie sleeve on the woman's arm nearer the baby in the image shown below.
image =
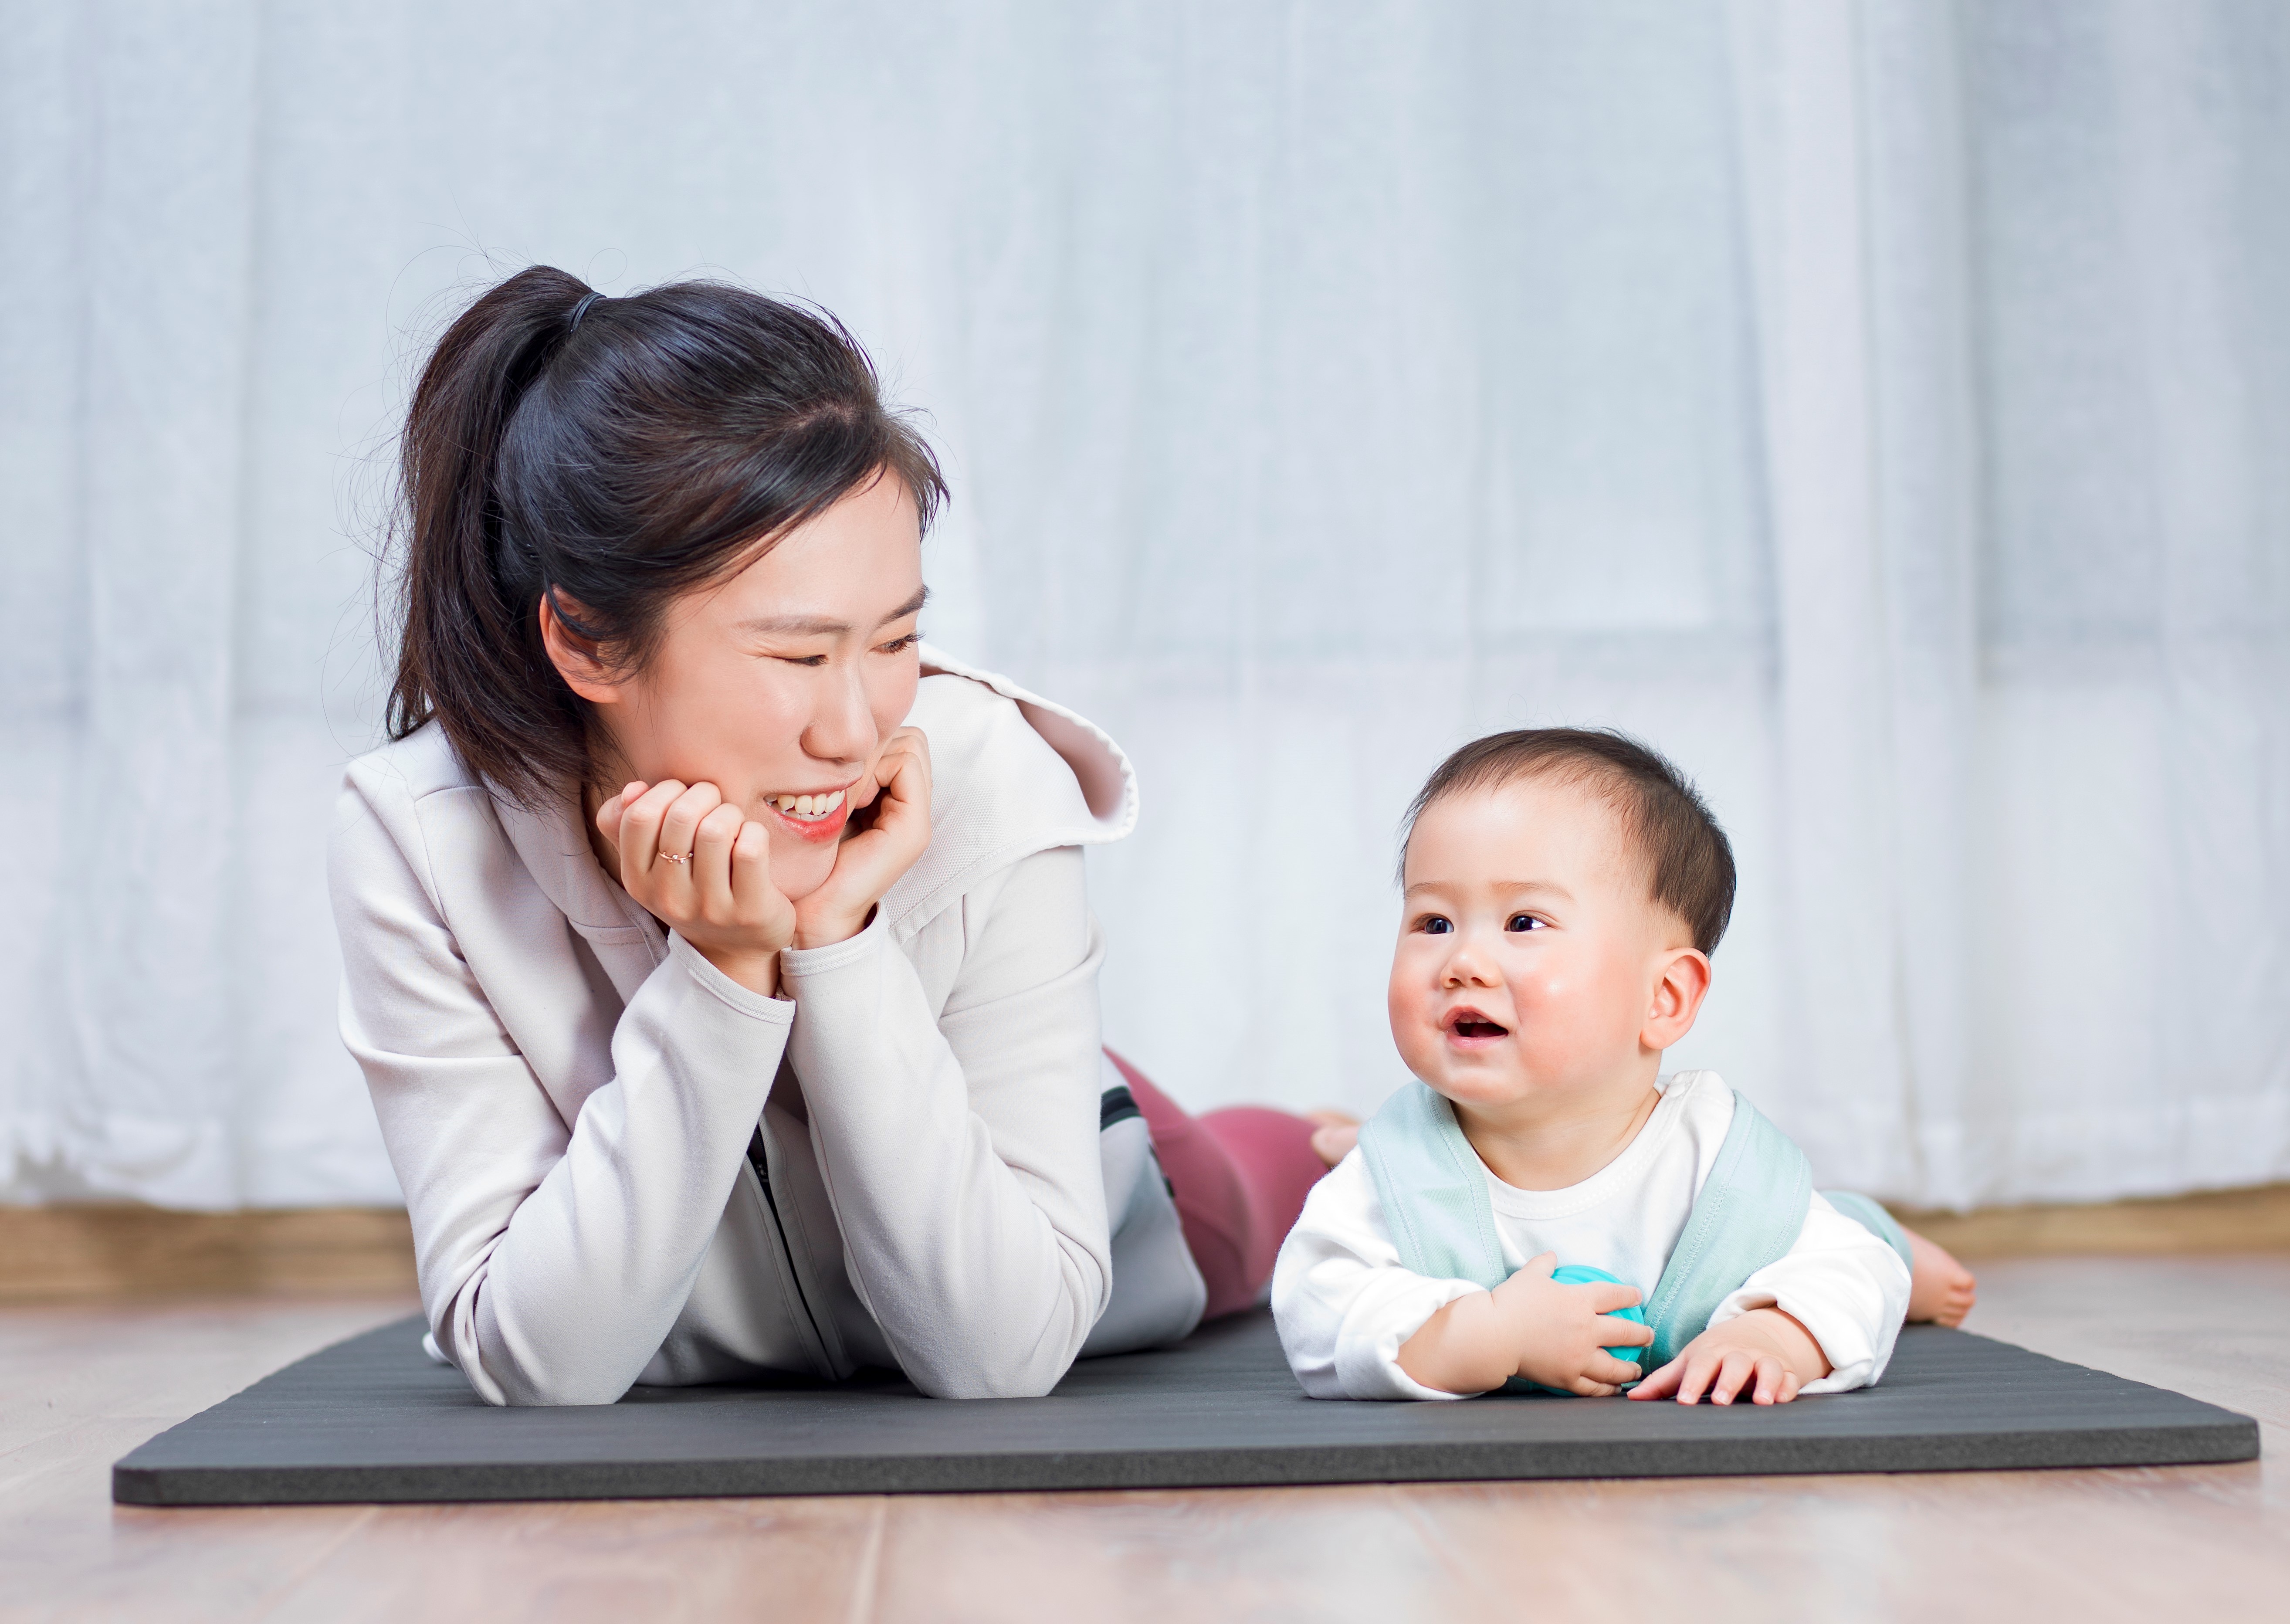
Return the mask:
<svg viewBox="0 0 2290 1624">
<path fill-rule="evenodd" d="M 925 1393 L 1047 1393 L 1111 1292 L 1081 857 L 964 902 L 941 1012 L 882 925 L 783 960 L 790 1056 L 852 1285 Z M 971 969 L 973 967 L 973 969 Z"/>
</svg>

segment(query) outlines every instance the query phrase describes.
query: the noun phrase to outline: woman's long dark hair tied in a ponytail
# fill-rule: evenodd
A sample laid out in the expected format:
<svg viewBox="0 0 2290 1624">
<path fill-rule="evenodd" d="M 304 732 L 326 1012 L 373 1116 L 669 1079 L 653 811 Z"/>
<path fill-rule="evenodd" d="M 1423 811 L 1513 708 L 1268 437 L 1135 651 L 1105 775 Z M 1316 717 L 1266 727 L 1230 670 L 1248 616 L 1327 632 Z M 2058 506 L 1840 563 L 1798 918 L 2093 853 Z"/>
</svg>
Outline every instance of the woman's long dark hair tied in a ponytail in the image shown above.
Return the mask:
<svg viewBox="0 0 2290 1624">
<path fill-rule="evenodd" d="M 447 328 L 405 419 L 389 738 L 435 717 L 497 793 L 563 795 L 591 772 L 591 715 L 550 664 L 540 593 L 641 669 L 673 598 L 884 474 L 930 529 L 937 458 L 834 316 L 520 270 Z"/>
</svg>

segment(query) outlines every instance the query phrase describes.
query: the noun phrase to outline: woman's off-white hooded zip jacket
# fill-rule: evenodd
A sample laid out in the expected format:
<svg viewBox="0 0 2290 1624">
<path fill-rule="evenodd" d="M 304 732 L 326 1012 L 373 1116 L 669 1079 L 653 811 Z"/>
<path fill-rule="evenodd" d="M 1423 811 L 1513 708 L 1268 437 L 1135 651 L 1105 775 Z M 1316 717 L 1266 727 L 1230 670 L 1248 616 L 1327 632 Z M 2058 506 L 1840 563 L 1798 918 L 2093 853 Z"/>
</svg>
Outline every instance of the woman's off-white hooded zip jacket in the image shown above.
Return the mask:
<svg viewBox="0 0 2290 1624">
<path fill-rule="evenodd" d="M 1047 1393 L 1113 1296 L 1108 1170 L 1124 1287 L 1150 1294 L 1124 1290 L 1118 1345 L 1200 1317 L 1161 1180 L 1120 1134 L 1099 1150 L 1079 848 L 1136 825 L 1129 760 L 930 648 L 909 722 L 930 848 L 863 932 L 783 955 L 785 999 L 662 932 L 575 799 L 508 806 L 435 724 L 350 763 L 341 1033 L 431 1335 L 483 1400 L 866 1365 L 943 1397 Z"/>
</svg>

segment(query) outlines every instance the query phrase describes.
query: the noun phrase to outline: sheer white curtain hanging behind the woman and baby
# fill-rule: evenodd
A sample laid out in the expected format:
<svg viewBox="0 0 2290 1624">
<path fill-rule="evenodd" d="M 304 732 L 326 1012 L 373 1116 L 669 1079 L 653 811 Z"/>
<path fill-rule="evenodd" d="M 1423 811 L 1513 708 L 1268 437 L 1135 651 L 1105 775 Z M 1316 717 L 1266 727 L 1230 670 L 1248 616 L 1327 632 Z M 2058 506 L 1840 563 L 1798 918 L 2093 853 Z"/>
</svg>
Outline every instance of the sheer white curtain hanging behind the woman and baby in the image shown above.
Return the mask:
<svg viewBox="0 0 2290 1624">
<path fill-rule="evenodd" d="M 529 261 L 932 412 L 930 630 L 1134 751 L 1184 1102 L 1374 1106 L 1406 797 L 1619 724 L 1743 859 L 1676 1061 L 1823 1180 L 2290 1177 L 2272 0 L 0 0 L 0 1198 L 394 1198 L 325 829 Z"/>
</svg>

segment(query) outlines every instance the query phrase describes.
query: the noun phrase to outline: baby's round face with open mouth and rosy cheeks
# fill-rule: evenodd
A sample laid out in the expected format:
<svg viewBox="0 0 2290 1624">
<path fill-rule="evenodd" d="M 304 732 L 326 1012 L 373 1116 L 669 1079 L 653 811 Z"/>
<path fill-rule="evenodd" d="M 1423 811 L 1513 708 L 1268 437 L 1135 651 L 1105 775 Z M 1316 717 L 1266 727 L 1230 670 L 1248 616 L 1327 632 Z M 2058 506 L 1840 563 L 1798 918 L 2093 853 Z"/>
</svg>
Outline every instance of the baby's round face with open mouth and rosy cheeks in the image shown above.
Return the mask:
<svg viewBox="0 0 2290 1624">
<path fill-rule="evenodd" d="M 1390 1015 L 1415 1077 L 1495 1109 L 1653 1081 L 1663 969 L 1692 941 L 1596 793 L 1525 781 L 1436 802 L 1404 880 Z"/>
</svg>

